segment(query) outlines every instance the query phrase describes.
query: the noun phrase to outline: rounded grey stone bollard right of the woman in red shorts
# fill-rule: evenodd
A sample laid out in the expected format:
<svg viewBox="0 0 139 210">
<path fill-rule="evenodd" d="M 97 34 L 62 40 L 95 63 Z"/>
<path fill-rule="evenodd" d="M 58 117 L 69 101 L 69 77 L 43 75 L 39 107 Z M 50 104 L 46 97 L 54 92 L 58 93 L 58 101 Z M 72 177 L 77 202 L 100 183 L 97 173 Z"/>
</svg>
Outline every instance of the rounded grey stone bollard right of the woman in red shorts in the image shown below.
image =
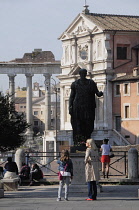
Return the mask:
<svg viewBox="0 0 139 210">
<path fill-rule="evenodd" d="M 138 178 L 138 151 L 136 148 L 130 148 L 128 151 L 128 178 Z"/>
</svg>

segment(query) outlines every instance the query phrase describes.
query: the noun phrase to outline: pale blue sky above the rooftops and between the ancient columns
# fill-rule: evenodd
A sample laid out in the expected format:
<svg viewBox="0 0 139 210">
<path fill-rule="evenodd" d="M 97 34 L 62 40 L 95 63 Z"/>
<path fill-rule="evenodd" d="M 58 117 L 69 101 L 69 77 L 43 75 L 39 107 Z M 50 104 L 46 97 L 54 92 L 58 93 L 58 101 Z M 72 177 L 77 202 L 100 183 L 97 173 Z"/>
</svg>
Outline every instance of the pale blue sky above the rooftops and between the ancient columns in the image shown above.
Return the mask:
<svg viewBox="0 0 139 210">
<path fill-rule="evenodd" d="M 36 48 L 62 57 L 58 40 L 83 6 L 91 13 L 138 15 L 139 0 L 0 0 L 0 61 L 22 58 Z M 42 75 L 33 82 L 43 84 Z M 16 76 L 17 86 L 26 86 L 25 76 Z M 8 77 L 0 75 L 0 91 L 8 89 Z"/>
</svg>

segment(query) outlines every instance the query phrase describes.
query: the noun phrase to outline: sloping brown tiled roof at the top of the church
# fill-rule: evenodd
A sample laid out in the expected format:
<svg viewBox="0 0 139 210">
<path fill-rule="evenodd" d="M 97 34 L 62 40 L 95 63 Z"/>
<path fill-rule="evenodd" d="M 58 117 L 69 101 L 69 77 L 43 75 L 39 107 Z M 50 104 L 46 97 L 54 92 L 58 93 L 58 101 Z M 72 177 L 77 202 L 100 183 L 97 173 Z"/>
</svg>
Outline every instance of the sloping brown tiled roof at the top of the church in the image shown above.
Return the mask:
<svg viewBox="0 0 139 210">
<path fill-rule="evenodd" d="M 139 31 L 139 16 L 97 13 L 85 16 L 104 31 Z"/>
</svg>

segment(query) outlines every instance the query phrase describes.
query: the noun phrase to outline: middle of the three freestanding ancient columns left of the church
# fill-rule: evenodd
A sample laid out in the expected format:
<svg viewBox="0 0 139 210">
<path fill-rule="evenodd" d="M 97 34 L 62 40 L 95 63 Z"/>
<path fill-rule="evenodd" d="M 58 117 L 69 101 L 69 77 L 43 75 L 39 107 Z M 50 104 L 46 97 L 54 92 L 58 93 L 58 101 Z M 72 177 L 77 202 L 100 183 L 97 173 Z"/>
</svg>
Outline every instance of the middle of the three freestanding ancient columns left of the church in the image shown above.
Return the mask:
<svg viewBox="0 0 139 210">
<path fill-rule="evenodd" d="M 33 138 L 33 115 L 32 115 L 32 77 L 34 76 L 31 73 L 25 74 L 26 76 L 26 87 L 27 87 L 27 96 L 26 96 L 26 116 L 27 123 L 31 126 L 28 128 L 27 134 L 30 135 L 30 140 Z"/>
</svg>

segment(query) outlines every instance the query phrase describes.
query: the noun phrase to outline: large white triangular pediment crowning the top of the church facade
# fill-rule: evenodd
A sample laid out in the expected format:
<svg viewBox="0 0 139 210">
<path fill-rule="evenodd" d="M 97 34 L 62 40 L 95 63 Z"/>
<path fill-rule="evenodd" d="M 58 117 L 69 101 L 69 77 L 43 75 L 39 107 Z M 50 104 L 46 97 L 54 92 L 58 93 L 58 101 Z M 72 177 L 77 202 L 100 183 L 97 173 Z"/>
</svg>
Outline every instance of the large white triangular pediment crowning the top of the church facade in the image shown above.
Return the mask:
<svg viewBox="0 0 139 210">
<path fill-rule="evenodd" d="M 69 39 L 73 36 L 81 36 L 86 33 L 94 34 L 98 32 L 102 32 L 102 29 L 99 26 L 86 18 L 84 14 L 79 14 L 59 39 Z"/>
</svg>

